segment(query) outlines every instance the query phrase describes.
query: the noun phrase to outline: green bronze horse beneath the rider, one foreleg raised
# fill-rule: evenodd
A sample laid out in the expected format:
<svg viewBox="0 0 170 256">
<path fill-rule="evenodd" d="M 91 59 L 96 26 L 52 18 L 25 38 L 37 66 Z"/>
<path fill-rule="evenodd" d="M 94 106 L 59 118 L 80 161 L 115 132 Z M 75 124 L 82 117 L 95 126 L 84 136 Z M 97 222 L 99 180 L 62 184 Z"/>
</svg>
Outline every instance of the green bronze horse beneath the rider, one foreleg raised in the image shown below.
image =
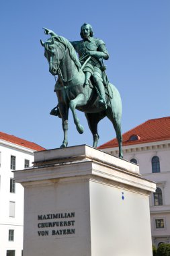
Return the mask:
<svg viewBox="0 0 170 256">
<path fill-rule="evenodd" d="M 79 133 L 83 133 L 84 129 L 79 123 L 76 109 L 85 113 L 89 129 L 93 135 L 94 148 L 97 147 L 99 139 L 97 124 L 104 117 L 108 117 L 116 131 L 119 157 L 123 158 L 120 122 L 122 102 L 116 87 L 108 83 L 107 88 L 105 88 L 107 108 L 101 108 L 95 85 L 85 86 L 83 67 L 71 42 L 62 36 L 51 36 L 46 42 L 42 40 L 40 42 L 44 46 L 44 56 L 48 60 L 50 73 L 54 76 L 58 75 L 54 92 L 56 92 L 58 98 L 58 116 L 62 119 L 62 129 L 64 131 L 64 139 L 60 148 L 65 148 L 68 145 L 68 116 L 69 108 L 71 108 L 74 123 Z"/>
</svg>

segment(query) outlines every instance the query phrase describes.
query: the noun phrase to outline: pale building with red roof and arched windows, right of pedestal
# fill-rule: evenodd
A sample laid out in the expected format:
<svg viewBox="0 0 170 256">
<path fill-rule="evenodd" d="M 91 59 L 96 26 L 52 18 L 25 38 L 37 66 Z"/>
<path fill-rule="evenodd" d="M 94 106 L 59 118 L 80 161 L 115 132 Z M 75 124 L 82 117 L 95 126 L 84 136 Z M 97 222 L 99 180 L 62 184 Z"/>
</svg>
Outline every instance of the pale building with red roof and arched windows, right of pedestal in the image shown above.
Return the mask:
<svg viewBox="0 0 170 256">
<path fill-rule="evenodd" d="M 116 139 L 99 149 L 118 156 Z M 170 117 L 148 120 L 124 133 L 123 152 L 124 159 L 140 166 L 144 179 L 157 183 L 150 197 L 153 245 L 170 243 Z"/>
</svg>

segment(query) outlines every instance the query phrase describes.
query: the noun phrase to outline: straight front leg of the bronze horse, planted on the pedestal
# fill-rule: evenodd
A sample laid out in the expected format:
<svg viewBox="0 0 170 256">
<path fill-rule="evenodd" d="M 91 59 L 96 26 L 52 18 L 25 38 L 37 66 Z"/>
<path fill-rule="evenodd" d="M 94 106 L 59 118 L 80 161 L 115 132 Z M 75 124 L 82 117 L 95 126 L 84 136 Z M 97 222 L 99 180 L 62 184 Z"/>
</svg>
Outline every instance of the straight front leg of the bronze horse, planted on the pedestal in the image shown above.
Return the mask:
<svg viewBox="0 0 170 256">
<path fill-rule="evenodd" d="M 60 148 L 66 148 L 68 145 L 68 139 L 67 139 L 67 131 L 68 131 L 68 115 L 69 115 L 69 106 L 65 104 L 58 104 L 60 109 L 60 115 L 62 117 L 62 129 L 64 131 L 64 139 L 62 141 L 62 145 Z"/>
</svg>

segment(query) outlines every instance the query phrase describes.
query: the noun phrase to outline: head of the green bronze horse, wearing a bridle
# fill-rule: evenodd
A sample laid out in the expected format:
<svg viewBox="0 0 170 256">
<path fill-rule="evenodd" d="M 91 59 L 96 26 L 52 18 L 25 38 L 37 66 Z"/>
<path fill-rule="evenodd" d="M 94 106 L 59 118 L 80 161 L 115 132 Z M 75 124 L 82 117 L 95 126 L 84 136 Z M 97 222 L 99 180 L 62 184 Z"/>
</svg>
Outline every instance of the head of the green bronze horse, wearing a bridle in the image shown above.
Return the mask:
<svg viewBox="0 0 170 256">
<path fill-rule="evenodd" d="M 42 42 L 42 40 L 40 40 L 40 42 L 45 49 L 44 56 L 48 60 L 50 73 L 52 75 L 57 75 L 60 61 L 64 56 L 64 46 L 60 44 L 60 42 L 54 40 L 53 37 L 46 42 Z"/>
</svg>

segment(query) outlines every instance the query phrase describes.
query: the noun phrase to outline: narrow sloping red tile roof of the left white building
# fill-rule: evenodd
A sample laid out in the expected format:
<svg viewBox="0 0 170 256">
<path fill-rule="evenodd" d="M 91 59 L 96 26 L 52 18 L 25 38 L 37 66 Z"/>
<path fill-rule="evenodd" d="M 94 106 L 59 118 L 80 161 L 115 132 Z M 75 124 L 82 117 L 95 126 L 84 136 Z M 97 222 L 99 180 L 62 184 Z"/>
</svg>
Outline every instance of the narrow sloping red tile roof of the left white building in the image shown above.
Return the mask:
<svg viewBox="0 0 170 256">
<path fill-rule="evenodd" d="M 1 131 L 0 131 L 0 139 L 9 141 L 11 143 L 17 144 L 25 148 L 30 148 L 31 150 L 35 150 L 35 151 L 45 150 L 45 148 L 42 148 L 41 146 L 39 146 L 34 142 L 27 141 L 26 139 L 20 139 L 19 137 L 15 137 L 7 133 L 2 133 Z"/>
</svg>

